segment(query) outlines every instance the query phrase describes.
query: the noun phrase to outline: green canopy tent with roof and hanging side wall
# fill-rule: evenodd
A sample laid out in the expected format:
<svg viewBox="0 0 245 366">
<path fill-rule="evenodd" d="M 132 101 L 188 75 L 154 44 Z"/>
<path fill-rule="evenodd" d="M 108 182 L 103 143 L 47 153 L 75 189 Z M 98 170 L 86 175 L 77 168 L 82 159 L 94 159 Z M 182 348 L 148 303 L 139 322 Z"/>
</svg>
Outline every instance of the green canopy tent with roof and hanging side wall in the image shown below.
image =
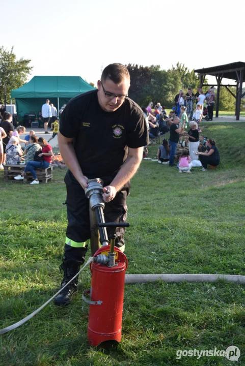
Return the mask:
<svg viewBox="0 0 245 366">
<path fill-rule="evenodd" d="M 94 87 L 80 76 L 34 76 L 28 83 L 12 90 L 11 98 L 15 98 L 18 114 L 36 113 L 38 116 L 46 99 L 59 110 L 71 98 L 92 89 Z"/>
</svg>

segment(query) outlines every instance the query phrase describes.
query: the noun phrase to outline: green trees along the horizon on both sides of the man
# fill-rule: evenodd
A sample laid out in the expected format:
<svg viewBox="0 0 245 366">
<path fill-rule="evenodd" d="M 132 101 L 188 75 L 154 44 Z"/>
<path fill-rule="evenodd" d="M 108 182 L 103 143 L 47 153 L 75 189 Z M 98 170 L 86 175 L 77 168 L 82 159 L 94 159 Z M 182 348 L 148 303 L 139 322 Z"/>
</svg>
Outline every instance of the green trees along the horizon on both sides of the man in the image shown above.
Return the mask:
<svg viewBox="0 0 245 366">
<path fill-rule="evenodd" d="M 7 104 L 10 104 L 11 90 L 21 87 L 28 80 L 33 67 L 31 60 L 21 57 L 17 59 L 13 47 L 9 51 L 0 47 L 0 103 L 4 103 L 4 88 L 6 87 Z M 187 88 L 194 90 L 199 86 L 199 76 L 194 70 L 188 70 L 185 65 L 177 63 L 171 69 L 161 70 L 159 65 L 142 66 L 126 65 L 129 73 L 131 86 L 129 97 L 140 106 L 147 106 L 150 102 L 154 105 L 160 102 L 167 108 L 174 105 L 174 97 L 179 90 L 187 92 Z M 206 83 L 205 80 L 204 83 Z M 92 83 L 91 83 L 92 84 Z M 206 91 L 208 87 L 204 87 Z M 233 94 L 235 87 L 230 88 Z M 244 101 L 242 102 L 242 105 Z M 225 87 L 220 92 L 220 110 L 232 111 L 235 108 L 235 98 Z"/>
</svg>

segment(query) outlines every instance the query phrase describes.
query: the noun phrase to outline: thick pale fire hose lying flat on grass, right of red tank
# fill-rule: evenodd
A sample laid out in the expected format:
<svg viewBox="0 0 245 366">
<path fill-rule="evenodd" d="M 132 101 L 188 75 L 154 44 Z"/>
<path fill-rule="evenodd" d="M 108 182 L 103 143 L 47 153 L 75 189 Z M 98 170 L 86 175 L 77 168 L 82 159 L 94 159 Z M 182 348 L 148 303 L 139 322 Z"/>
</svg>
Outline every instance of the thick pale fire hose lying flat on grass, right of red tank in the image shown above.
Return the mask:
<svg viewBox="0 0 245 366">
<path fill-rule="evenodd" d="M 162 280 L 164 282 L 216 282 L 226 280 L 228 282 L 245 284 L 245 276 L 241 275 L 126 275 L 125 284 L 148 283 Z"/>
</svg>

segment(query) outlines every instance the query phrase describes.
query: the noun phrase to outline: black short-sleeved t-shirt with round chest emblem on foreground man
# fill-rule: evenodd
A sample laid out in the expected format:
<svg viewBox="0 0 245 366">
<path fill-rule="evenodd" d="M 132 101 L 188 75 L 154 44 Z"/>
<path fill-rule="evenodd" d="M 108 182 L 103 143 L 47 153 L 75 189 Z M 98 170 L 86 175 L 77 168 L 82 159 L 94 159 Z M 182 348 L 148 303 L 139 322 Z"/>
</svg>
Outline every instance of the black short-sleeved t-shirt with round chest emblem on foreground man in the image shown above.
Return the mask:
<svg viewBox="0 0 245 366">
<path fill-rule="evenodd" d="M 116 174 L 127 157 L 127 147 L 149 143 L 144 113 L 136 103 L 126 97 L 115 112 L 105 112 L 97 92 L 70 100 L 60 123 L 61 134 L 73 138 L 79 165 L 88 178 Z"/>
</svg>

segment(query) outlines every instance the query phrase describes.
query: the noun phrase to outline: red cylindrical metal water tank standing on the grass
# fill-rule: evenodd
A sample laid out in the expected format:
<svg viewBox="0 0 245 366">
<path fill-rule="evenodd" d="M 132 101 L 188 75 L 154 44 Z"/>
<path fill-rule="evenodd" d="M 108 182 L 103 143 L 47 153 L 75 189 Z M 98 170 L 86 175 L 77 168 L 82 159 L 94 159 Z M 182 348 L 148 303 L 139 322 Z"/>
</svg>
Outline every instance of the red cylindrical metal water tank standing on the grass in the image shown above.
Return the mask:
<svg viewBox="0 0 245 366">
<path fill-rule="evenodd" d="M 108 255 L 110 246 L 101 247 L 94 255 Z M 105 341 L 120 342 L 127 257 L 117 248 L 116 266 L 92 263 L 88 340 L 92 346 Z"/>
</svg>

